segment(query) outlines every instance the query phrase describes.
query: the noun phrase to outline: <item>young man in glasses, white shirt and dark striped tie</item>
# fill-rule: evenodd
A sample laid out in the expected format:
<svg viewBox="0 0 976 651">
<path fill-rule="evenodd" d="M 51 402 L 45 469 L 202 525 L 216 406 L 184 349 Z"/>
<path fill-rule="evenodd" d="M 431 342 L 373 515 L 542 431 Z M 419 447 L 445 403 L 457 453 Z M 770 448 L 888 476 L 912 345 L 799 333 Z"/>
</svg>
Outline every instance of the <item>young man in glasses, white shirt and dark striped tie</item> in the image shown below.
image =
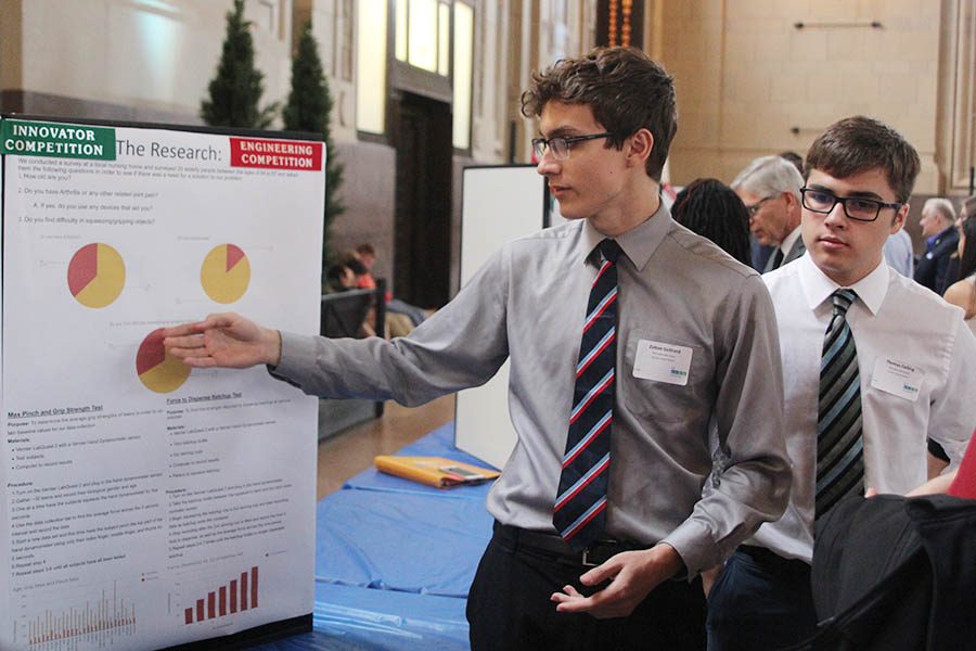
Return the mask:
<svg viewBox="0 0 976 651">
<path fill-rule="evenodd" d="M 763 276 L 780 331 L 793 492 L 783 518 L 740 546 L 717 579 L 712 651 L 775 649 L 812 634 L 817 518 L 869 487 L 903 494 L 925 482 L 927 437 L 952 467 L 965 451 L 976 340 L 959 308 L 883 261 L 919 167 L 898 132 L 861 116 L 831 126 L 807 155 L 807 254 Z"/>
</svg>

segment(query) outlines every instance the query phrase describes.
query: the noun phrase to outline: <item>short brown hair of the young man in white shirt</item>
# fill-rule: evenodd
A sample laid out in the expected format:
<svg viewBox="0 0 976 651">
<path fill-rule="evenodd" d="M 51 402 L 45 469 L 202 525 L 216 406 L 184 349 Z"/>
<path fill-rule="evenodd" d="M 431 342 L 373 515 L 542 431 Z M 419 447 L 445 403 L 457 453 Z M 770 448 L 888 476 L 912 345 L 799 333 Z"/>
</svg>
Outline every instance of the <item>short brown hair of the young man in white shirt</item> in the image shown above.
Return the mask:
<svg viewBox="0 0 976 651">
<path fill-rule="evenodd" d="M 827 127 L 807 152 L 806 179 L 819 169 L 843 179 L 882 169 L 900 203 L 908 202 L 922 164 L 919 152 L 898 131 L 863 115 Z"/>
</svg>

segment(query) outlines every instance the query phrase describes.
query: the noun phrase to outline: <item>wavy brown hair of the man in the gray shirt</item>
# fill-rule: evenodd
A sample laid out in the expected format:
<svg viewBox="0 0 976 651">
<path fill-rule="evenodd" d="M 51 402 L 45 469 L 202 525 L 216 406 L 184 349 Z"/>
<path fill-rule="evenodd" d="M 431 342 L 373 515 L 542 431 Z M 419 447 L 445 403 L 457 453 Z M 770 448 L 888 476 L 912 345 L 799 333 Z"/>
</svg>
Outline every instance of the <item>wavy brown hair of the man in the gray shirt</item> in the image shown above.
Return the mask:
<svg viewBox="0 0 976 651">
<path fill-rule="evenodd" d="M 539 117 L 549 102 L 585 104 L 612 135 L 607 146 L 645 128 L 654 136 L 647 176 L 660 181 L 671 140 L 678 130 L 675 80 L 664 67 L 635 48 L 596 48 L 586 56 L 562 59 L 532 74 L 522 93 L 522 114 Z"/>
</svg>

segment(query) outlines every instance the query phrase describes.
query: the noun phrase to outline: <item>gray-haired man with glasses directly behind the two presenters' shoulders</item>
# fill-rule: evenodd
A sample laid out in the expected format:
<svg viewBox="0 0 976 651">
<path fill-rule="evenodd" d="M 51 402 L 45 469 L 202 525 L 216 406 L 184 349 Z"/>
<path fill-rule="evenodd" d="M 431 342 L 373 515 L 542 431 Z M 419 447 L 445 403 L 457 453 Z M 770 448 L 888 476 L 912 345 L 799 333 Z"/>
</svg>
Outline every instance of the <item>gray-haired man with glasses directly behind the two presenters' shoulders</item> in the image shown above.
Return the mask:
<svg viewBox="0 0 976 651">
<path fill-rule="evenodd" d="M 775 246 L 762 271 L 772 271 L 804 254 L 800 194 L 796 166 L 782 156 L 761 156 L 732 181 L 732 190 L 749 212 L 749 230 L 760 244 Z"/>
</svg>

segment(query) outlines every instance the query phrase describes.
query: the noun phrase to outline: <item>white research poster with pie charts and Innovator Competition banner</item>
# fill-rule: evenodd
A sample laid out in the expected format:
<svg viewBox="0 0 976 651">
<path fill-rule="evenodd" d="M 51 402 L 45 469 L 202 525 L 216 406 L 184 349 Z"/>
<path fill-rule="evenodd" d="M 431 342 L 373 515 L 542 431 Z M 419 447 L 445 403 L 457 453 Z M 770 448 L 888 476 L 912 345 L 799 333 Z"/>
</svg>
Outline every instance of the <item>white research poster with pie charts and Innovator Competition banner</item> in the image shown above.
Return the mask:
<svg viewBox="0 0 976 651">
<path fill-rule="evenodd" d="M 154 649 L 314 605 L 317 400 L 160 329 L 319 329 L 322 142 L 0 123 L 0 649 Z"/>
</svg>

